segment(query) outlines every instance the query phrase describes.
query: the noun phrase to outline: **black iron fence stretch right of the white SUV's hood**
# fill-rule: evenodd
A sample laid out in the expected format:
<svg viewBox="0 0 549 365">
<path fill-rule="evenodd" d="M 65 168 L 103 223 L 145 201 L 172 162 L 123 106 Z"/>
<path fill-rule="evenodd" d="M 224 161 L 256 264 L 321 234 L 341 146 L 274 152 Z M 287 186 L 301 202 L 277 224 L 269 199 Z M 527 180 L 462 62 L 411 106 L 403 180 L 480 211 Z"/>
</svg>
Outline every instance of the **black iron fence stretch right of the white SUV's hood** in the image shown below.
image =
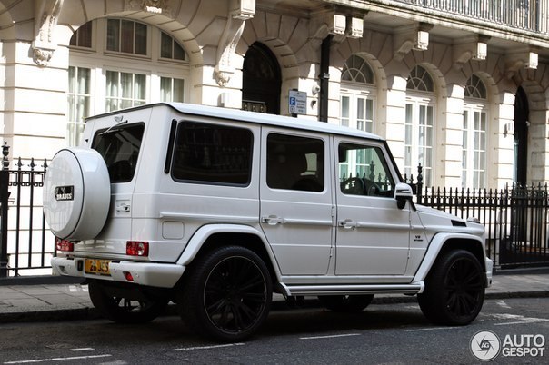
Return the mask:
<svg viewBox="0 0 549 365">
<path fill-rule="evenodd" d="M 486 254 L 496 267 L 549 265 L 546 184 L 494 190 L 425 188 L 418 202 L 461 218 L 477 218 L 486 230 Z"/>
</svg>

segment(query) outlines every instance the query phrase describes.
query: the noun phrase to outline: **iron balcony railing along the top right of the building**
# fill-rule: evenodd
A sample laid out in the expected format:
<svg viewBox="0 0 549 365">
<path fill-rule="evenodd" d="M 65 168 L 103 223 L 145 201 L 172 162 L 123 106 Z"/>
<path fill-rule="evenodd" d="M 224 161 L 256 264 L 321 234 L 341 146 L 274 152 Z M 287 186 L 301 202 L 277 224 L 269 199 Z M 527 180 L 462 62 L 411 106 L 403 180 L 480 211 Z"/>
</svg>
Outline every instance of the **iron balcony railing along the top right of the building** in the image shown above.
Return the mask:
<svg viewBox="0 0 549 365">
<path fill-rule="evenodd" d="M 394 0 L 497 25 L 549 33 L 549 2 L 546 0 Z"/>
</svg>

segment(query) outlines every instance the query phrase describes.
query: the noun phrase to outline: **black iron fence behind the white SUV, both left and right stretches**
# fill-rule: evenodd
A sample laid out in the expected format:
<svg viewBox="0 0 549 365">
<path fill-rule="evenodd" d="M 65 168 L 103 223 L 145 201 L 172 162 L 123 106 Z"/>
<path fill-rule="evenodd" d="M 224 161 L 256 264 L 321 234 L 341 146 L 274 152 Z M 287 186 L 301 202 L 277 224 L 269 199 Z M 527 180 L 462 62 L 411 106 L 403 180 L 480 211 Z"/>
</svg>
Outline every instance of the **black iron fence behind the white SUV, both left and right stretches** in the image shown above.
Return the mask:
<svg viewBox="0 0 549 365">
<path fill-rule="evenodd" d="M 2 148 L 0 170 L 0 278 L 43 273 L 51 268 L 55 237 L 45 223 L 42 187 L 47 162 L 18 159 L 10 168 L 9 147 Z M 386 183 L 379 177 L 379 183 Z M 462 218 L 475 217 L 486 230 L 486 254 L 497 268 L 549 265 L 549 189 L 547 185 L 499 190 L 423 187 L 417 177 L 404 176 L 415 200 Z"/>
</svg>

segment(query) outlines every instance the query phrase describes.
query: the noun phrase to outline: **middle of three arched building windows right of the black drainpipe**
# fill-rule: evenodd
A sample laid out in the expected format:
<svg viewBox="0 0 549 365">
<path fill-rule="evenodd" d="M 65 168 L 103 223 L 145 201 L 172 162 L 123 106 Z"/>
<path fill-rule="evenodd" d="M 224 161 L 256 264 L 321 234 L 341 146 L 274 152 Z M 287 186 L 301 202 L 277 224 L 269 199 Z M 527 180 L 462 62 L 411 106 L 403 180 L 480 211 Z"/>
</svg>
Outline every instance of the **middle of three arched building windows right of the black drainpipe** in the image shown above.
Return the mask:
<svg viewBox="0 0 549 365">
<path fill-rule="evenodd" d="M 416 175 L 423 167 L 425 186 L 433 185 L 434 156 L 434 81 L 418 65 L 412 70 L 406 85 L 406 116 L 404 134 L 404 173 Z"/>
</svg>

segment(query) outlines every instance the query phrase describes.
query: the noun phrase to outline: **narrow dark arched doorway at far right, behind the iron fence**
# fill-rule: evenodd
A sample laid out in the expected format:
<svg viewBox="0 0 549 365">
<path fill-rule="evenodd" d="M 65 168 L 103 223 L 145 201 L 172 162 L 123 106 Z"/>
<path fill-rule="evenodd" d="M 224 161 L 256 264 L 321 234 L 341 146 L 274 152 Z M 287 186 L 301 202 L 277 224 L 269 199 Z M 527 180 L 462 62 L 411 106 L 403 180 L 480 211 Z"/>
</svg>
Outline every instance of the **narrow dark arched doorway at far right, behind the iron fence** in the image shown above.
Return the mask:
<svg viewBox="0 0 549 365">
<path fill-rule="evenodd" d="M 528 172 L 528 98 L 519 87 L 514 97 L 514 176 L 516 184 L 526 184 Z"/>
</svg>

